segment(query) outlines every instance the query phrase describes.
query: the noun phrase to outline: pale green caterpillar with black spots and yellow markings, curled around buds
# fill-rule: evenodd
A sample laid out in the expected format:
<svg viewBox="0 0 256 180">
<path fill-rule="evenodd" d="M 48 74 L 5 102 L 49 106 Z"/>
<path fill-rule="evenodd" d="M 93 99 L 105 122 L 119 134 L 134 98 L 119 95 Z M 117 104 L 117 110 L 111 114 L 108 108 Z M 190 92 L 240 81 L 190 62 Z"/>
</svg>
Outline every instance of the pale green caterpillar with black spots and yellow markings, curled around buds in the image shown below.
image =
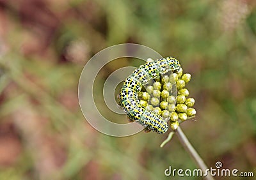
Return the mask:
<svg viewBox="0 0 256 180">
<path fill-rule="evenodd" d="M 168 124 L 164 121 L 163 117 L 140 105 L 138 93 L 150 80 L 158 79 L 160 75 L 174 70 L 178 72 L 181 70 L 179 61 L 174 57 L 166 57 L 141 65 L 127 77 L 120 91 L 119 98 L 120 105 L 129 119 L 157 133 L 168 131 Z"/>
</svg>

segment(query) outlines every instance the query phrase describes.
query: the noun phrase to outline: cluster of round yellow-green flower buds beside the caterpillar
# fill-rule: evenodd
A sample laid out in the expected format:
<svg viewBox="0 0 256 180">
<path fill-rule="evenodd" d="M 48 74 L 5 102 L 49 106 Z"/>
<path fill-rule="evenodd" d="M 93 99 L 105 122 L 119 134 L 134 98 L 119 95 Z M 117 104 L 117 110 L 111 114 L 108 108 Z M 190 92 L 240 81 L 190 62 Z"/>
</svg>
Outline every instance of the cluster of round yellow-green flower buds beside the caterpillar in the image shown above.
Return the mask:
<svg viewBox="0 0 256 180">
<path fill-rule="evenodd" d="M 191 80 L 189 73 L 166 73 L 160 79 L 155 79 L 143 87 L 138 94 L 140 104 L 170 120 L 170 127 L 176 130 L 179 122 L 195 117 L 193 109 L 195 100 L 189 98 L 189 91 L 185 88 Z"/>
</svg>

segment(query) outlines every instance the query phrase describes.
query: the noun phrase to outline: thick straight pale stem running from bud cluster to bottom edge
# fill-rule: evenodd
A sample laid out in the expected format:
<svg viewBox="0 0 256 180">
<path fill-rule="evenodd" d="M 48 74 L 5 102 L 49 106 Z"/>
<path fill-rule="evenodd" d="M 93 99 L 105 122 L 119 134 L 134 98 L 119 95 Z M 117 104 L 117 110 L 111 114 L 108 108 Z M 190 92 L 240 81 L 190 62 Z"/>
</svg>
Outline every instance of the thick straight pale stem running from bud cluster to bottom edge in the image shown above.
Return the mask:
<svg viewBox="0 0 256 180">
<path fill-rule="evenodd" d="M 204 161 L 198 155 L 198 153 L 196 152 L 194 147 L 190 144 L 189 140 L 187 139 L 186 135 L 181 130 L 180 126 L 177 128 L 176 132 L 177 132 L 177 135 L 179 137 L 179 140 L 180 140 L 182 146 L 186 149 L 186 151 L 188 151 L 191 158 L 193 158 L 193 160 L 198 165 L 198 167 L 200 169 L 202 169 L 202 172 L 204 174 L 206 172 L 206 170 L 208 169 L 207 166 L 205 165 Z M 207 176 L 205 176 L 205 179 L 213 180 L 214 178 L 211 176 L 211 174 L 207 173 Z"/>
</svg>

